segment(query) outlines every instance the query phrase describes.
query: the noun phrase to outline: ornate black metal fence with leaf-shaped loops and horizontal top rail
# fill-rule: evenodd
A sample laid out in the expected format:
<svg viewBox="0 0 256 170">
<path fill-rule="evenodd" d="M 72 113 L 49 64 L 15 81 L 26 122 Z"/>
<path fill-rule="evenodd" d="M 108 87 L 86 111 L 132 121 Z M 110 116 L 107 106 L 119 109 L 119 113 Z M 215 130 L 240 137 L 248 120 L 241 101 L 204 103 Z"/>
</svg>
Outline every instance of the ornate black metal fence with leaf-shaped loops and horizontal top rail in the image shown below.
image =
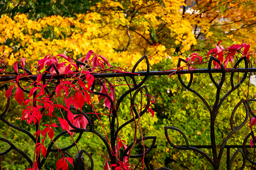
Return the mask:
<svg viewBox="0 0 256 170">
<path fill-rule="evenodd" d="M 147 70 L 145 72 L 135 72 L 136 67 L 143 61 L 146 61 L 147 64 Z M 90 88 L 90 92 L 92 94 L 96 94 L 99 96 L 102 96 L 104 98 L 107 98 L 106 100 L 109 101 L 110 103 L 110 112 L 111 114 L 109 115 L 109 131 L 106 132 L 107 134 L 101 134 L 100 132 L 96 131 L 93 125 L 93 120 L 91 120 L 91 118 L 84 113 L 83 111 L 80 111 L 79 109 L 70 106 L 70 109 L 72 110 L 77 110 L 78 114 L 83 115 L 86 118 L 86 121 L 88 121 L 87 127 L 82 128 L 82 127 L 77 127 L 75 125 L 72 124 L 72 122 L 70 122 L 70 119 L 68 119 L 68 111 L 63 111 L 64 113 L 64 117 L 66 119 L 66 121 L 68 122 L 68 125 L 70 127 L 72 127 L 72 130 L 70 130 L 70 132 L 75 132 L 75 133 L 79 133 L 78 138 L 75 139 L 74 143 L 72 143 L 70 146 L 65 147 L 65 148 L 61 148 L 61 149 L 54 149 L 54 145 L 55 142 L 58 140 L 61 140 L 62 136 L 67 134 L 68 131 L 63 131 L 61 133 L 59 133 L 58 135 L 56 135 L 54 137 L 54 139 L 52 139 L 52 141 L 50 142 L 50 144 L 48 145 L 48 148 L 45 151 L 45 156 L 40 156 L 40 154 L 38 156 L 36 156 L 36 162 L 37 162 L 37 166 L 38 169 L 42 168 L 42 166 L 44 165 L 46 159 L 50 159 L 48 158 L 49 154 L 51 152 L 63 152 L 64 155 L 66 155 L 69 158 L 72 158 L 72 162 L 74 165 L 74 169 L 79 169 L 80 167 L 80 161 L 81 161 L 81 157 L 82 156 L 88 156 L 89 160 L 90 160 L 90 164 L 91 164 L 91 170 L 94 169 L 94 161 L 92 156 L 86 151 L 86 149 L 82 149 L 80 150 L 80 152 L 77 155 L 77 159 L 72 157 L 72 155 L 70 155 L 68 153 L 68 150 L 71 149 L 72 147 L 76 147 L 76 143 L 78 143 L 80 141 L 80 139 L 86 137 L 87 133 L 93 133 L 96 136 L 98 136 L 98 139 L 102 140 L 102 142 L 104 143 L 106 150 L 108 151 L 108 156 L 109 156 L 109 161 L 111 164 L 116 164 L 116 166 L 118 166 L 118 159 L 119 160 L 124 160 L 125 158 L 140 158 L 140 157 L 144 157 L 147 154 L 150 154 L 150 152 L 154 151 L 154 146 L 158 145 L 156 143 L 156 136 L 148 136 L 148 137 L 143 137 L 143 138 L 135 138 L 136 140 L 134 140 L 133 143 L 128 144 L 128 146 L 122 151 L 122 154 L 120 154 L 118 157 L 116 156 L 116 146 L 117 146 L 117 141 L 118 141 L 118 135 L 120 133 L 120 131 L 122 130 L 122 128 L 124 128 L 126 125 L 129 125 L 130 123 L 133 123 L 134 121 L 136 122 L 136 120 L 139 120 L 140 117 L 142 117 L 142 115 L 144 115 L 150 106 L 150 92 L 148 91 L 148 88 L 145 84 L 146 80 L 148 79 L 149 76 L 160 76 L 160 75 L 170 75 L 170 74 L 176 74 L 178 76 L 178 80 L 180 81 L 180 83 L 182 84 L 182 86 L 192 92 L 193 94 L 195 94 L 196 96 L 198 96 L 198 98 L 201 100 L 200 102 L 203 102 L 204 105 L 207 107 L 209 113 L 210 113 L 210 140 L 211 140 L 211 154 L 212 155 L 208 155 L 206 154 L 206 152 L 200 150 L 199 148 L 197 148 L 196 146 L 193 147 L 190 145 L 189 139 L 186 137 L 187 134 L 185 134 L 182 129 L 178 129 L 177 127 L 173 127 L 171 125 L 166 125 L 164 127 L 164 129 L 162 129 L 162 131 L 164 131 L 165 136 L 166 136 L 166 140 L 167 142 L 171 145 L 172 149 L 178 149 L 178 150 L 191 150 L 192 152 L 197 152 L 198 154 L 201 154 L 204 158 L 205 161 L 210 162 L 210 164 L 212 165 L 212 168 L 215 170 L 220 169 L 220 162 L 222 160 L 222 155 L 223 155 L 223 151 L 225 148 L 227 148 L 226 144 L 227 142 L 230 140 L 230 138 L 232 137 L 232 135 L 234 133 L 239 133 L 239 130 L 246 125 L 247 121 L 249 121 L 252 117 L 256 118 L 256 115 L 254 114 L 253 110 L 251 109 L 251 105 L 252 102 L 256 102 L 255 99 L 243 99 L 241 98 L 240 102 L 236 104 L 236 106 L 234 107 L 232 113 L 230 114 L 230 127 L 231 127 L 231 131 L 230 133 L 226 136 L 226 138 L 224 139 L 224 141 L 221 144 L 216 144 L 216 126 L 215 126 L 215 121 L 216 121 L 216 117 L 219 116 L 219 111 L 220 111 L 220 107 L 222 106 L 224 100 L 226 100 L 226 98 L 228 98 L 228 96 L 234 92 L 235 90 L 237 90 L 241 84 L 244 83 L 244 81 L 246 80 L 246 78 L 248 78 L 248 72 L 256 72 L 256 68 L 248 68 L 248 61 L 247 59 L 241 58 L 239 61 L 236 62 L 236 64 L 234 64 L 233 68 L 224 68 L 224 66 L 221 64 L 221 68 L 220 69 L 213 69 L 211 67 L 212 62 L 218 62 L 218 60 L 214 57 L 210 57 L 209 63 L 208 63 L 208 68 L 204 68 L 204 69 L 194 69 L 194 70 L 170 70 L 170 71 L 150 71 L 150 66 L 148 63 L 148 59 L 145 56 L 143 56 L 135 65 L 134 68 L 132 69 L 132 72 L 114 72 L 114 73 L 102 73 L 102 74 L 97 74 L 97 73 L 92 73 L 92 75 L 94 76 L 95 80 L 94 83 L 92 84 L 91 88 Z M 179 59 L 178 61 L 178 65 L 177 67 L 181 66 L 181 63 L 187 63 L 187 61 L 183 60 L 183 59 Z M 239 68 L 238 65 L 239 64 L 244 64 L 245 68 Z M 85 66 L 85 64 L 81 63 L 81 62 L 77 62 L 76 63 L 77 66 Z M 49 98 L 51 98 L 52 96 L 56 95 L 56 87 L 61 83 L 62 78 L 70 78 L 70 76 L 66 76 L 66 75 L 62 75 L 62 74 L 58 74 L 58 70 L 56 69 L 55 66 L 52 66 L 51 68 L 49 67 L 46 71 L 49 71 L 50 69 L 55 69 L 57 74 L 47 74 L 47 72 L 45 72 L 45 74 L 42 76 L 42 81 L 44 82 L 44 84 L 46 84 L 46 82 L 48 82 L 50 84 L 53 83 L 52 86 L 48 86 L 45 90 L 49 96 Z M 24 68 L 22 67 L 18 67 L 18 69 L 24 70 Z M 27 81 L 30 83 L 33 83 L 34 81 L 36 81 L 38 79 L 38 75 L 32 75 L 32 73 L 29 70 L 24 70 L 28 76 L 20 76 L 19 82 L 21 81 Z M 236 72 L 240 72 L 241 74 L 243 74 L 241 80 L 238 82 L 238 84 L 234 84 L 234 73 Z M 208 76 L 210 77 L 210 80 L 212 82 L 212 84 L 214 84 L 215 88 L 216 88 L 216 94 L 215 94 L 215 102 L 214 104 L 211 106 L 206 99 L 204 99 L 204 97 L 202 96 L 202 94 L 199 94 L 198 92 L 196 92 L 195 90 L 193 90 L 191 88 L 191 85 L 193 83 L 193 75 L 195 73 L 200 73 L 200 74 L 208 74 Z M 214 76 L 212 76 L 213 73 L 220 73 L 221 76 L 221 80 L 215 80 Z M 14 73 L 15 74 L 15 73 Z M 190 74 L 190 81 L 188 82 L 188 84 L 185 84 L 184 81 L 182 80 L 181 75 L 182 74 Z M 136 80 L 136 76 L 143 76 L 142 80 L 140 80 L 140 82 L 138 82 Z M 72 76 L 78 77 L 78 76 L 84 76 L 82 75 L 82 73 L 80 74 L 73 74 Z M 226 77 L 230 76 L 230 86 L 231 89 L 224 95 L 221 96 L 221 90 L 223 88 L 223 83 L 226 80 Z M 132 85 L 129 86 L 129 90 L 127 90 L 126 92 L 124 92 L 121 96 L 118 97 L 118 100 L 114 101 L 113 98 L 111 98 L 111 96 L 107 93 L 104 93 L 103 91 L 101 92 L 97 92 L 94 90 L 95 88 L 95 83 L 97 82 L 100 86 L 104 86 L 104 81 L 108 81 L 106 78 L 113 78 L 113 77 L 123 77 L 125 80 L 127 77 L 130 77 L 132 79 Z M 167 77 L 167 76 L 166 76 Z M 11 76 L 6 76 L 6 74 L 2 74 L 0 75 L 0 81 L 1 82 L 6 82 L 6 84 L 3 84 L 0 87 L 0 90 L 2 91 L 6 91 L 8 90 L 10 87 L 8 86 L 8 82 L 10 81 L 16 81 L 17 75 L 11 75 Z M 71 81 L 71 80 L 70 80 Z M 86 82 L 86 77 L 84 76 L 84 81 Z M 18 82 L 17 82 L 18 83 Z M 109 83 L 111 84 L 111 83 Z M 22 89 L 22 91 L 26 94 L 30 94 L 31 92 L 29 90 L 26 90 L 24 88 L 22 88 L 22 86 L 20 85 L 20 83 L 18 83 L 18 86 Z M 36 87 L 36 85 L 34 84 L 34 86 Z M 114 87 L 111 87 L 112 90 L 114 90 Z M 161 87 L 159 87 L 161 88 Z M 105 89 L 106 91 L 106 89 Z M 145 103 L 145 107 L 143 108 L 138 108 L 136 106 L 136 97 L 140 96 L 141 93 L 146 94 L 146 103 Z M 124 100 L 124 98 L 126 98 L 127 96 L 131 97 L 130 100 L 130 107 L 132 109 L 132 113 L 133 116 L 131 115 L 130 119 L 127 120 L 125 123 L 123 123 L 122 125 L 119 125 L 118 123 L 118 111 L 119 108 L 121 106 L 122 101 Z M 33 98 L 36 98 L 36 93 L 33 94 Z M 6 126 L 12 127 L 14 129 L 16 129 L 16 131 L 20 131 L 24 134 L 26 134 L 28 137 L 30 137 L 31 141 L 33 141 L 33 143 L 36 145 L 37 143 L 40 144 L 40 137 L 37 138 L 34 136 L 34 134 L 30 133 L 29 131 L 27 131 L 26 129 L 22 129 L 14 124 L 12 124 L 12 122 L 8 121 L 5 117 L 8 114 L 8 109 L 10 108 L 10 98 L 8 98 L 7 102 L 6 102 L 6 108 L 2 111 L 2 113 L 0 114 L 0 119 L 6 124 Z M 244 120 L 243 122 L 238 126 L 238 127 L 234 127 L 234 115 L 236 114 L 236 109 L 238 107 L 244 107 L 246 110 L 245 116 L 244 116 Z M 40 109 L 41 113 L 44 113 L 44 111 L 46 110 L 46 108 L 42 107 Z M 97 115 L 98 116 L 98 115 Z M 38 123 L 35 124 L 35 131 L 39 131 L 40 125 Z M 172 139 L 170 139 L 169 134 L 173 133 L 173 131 L 177 131 L 178 133 L 180 133 L 184 140 L 186 141 L 186 145 L 185 146 L 178 146 L 175 145 L 172 142 Z M 87 132 L 87 133 L 86 133 Z M 107 138 L 109 137 L 109 139 Z M 146 141 L 146 140 L 151 140 L 151 146 L 148 148 L 148 150 L 145 150 L 143 153 L 138 154 L 138 155 L 132 155 L 130 153 L 130 150 L 134 147 L 134 145 L 136 145 L 137 143 L 140 143 L 141 141 Z M 22 148 L 17 148 L 12 141 L 8 141 L 7 139 L 3 138 L 3 135 L 1 135 L 0 141 L 7 143 L 8 145 L 10 145 L 10 148 L 7 150 L 1 150 L 0 156 L 8 154 L 8 152 L 10 152 L 11 150 L 15 150 L 16 152 L 18 152 L 19 154 L 21 154 L 24 159 L 26 159 L 26 161 L 28 161 L 28 163 L 31 165 L 31 167 L 33 166 L 33 162 L 34 160 L 32 158 L 30 158 L 27 153 L 22 151 Z M 255 137 L 254 137 L 254 131 L 250 131 L 248 133 L 247 136 L 244 137 L 244 142 L 242 143 L 242 147 L 238 148 L 236 150 L 236 152 L 233 153 L 232 157 L 230 158 L 230 162 L 227 165 L 228 169 L 232 169 L 232 163 L 234 161 L 234 159 L 236 158 L 236 156 L 238 154 L 242 155 L 243 158 L 243 163 L 240 165 L 240 169 L 244 169 L 244 167 L 246 166 L 246 164 L 252 164 L 252 165 L 256 165 L 256 162 L 254 160 L 254 158 L 252 158 L 251 156 L 248 155 L 247 151 L 246 151 L 246 147 L 248 147 L 248 141 L 251 141 L 251 144 L 253 145 L 252 147 L 255 148 L 254 142 L 256 141 Z M 218 148 L 218 145 L 220 145 L 220 147 Z M 117 146 L 118 147 L 118 146 Z M 255 150 L 255 149 L 254 149 Z M 118 150 L 119 151 L 119 150 Z M 232 153 L 231 153 L 232 154 Z M 11 163 L 11 162 L 10 162 Z M 105 164 L 105 162 L 104 162 Z M 119 165 L 120 168 L 122 168 L 122 165 Z M 112 167 L 108 167 L 109 169 L 114 170 L 115 166 Z M 132 169 L 133 167 L 131 166 L 130 169 Z M 168 170 L 168 167 L 160 167 L 157 170 Z"/>
</svg>

